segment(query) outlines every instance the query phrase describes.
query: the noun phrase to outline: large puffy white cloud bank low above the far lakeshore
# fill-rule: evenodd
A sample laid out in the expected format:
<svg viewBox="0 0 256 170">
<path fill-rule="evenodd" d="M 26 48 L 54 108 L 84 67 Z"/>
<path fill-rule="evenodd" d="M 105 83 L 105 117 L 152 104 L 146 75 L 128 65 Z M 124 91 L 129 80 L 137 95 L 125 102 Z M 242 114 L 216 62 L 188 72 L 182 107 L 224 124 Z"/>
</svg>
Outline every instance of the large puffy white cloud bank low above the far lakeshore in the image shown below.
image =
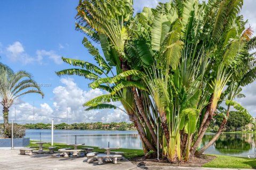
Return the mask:
<svg viewBox="0 0 256 170">
<path fill-rule="evenodd" d="M 105 94 L 100 89 L 82 90 L 77 86 L 73 79 L 60 79 L 62 85 L 55 87 L 53 90 L 54 98 L 52 106 L 43 103 L 39 107 L 35 107 L 35 123 L 49 123 L 54 119 L 55 123 L 67 122 L 129 122 L 129 117 L 119 109 L 102 109 L 84 111 L 83 104 L 100 95 Z M 16 101 L 16 122 L 17 123 L 33 123 L 33 105 L 24 101 Z M 115 103 L 123 108 L 120 103 Z M 14 118 L 15 105 L 10 108 L 10 120 Z M 2 121 L 3 118 L 0 117 Z"/>
</svg>

